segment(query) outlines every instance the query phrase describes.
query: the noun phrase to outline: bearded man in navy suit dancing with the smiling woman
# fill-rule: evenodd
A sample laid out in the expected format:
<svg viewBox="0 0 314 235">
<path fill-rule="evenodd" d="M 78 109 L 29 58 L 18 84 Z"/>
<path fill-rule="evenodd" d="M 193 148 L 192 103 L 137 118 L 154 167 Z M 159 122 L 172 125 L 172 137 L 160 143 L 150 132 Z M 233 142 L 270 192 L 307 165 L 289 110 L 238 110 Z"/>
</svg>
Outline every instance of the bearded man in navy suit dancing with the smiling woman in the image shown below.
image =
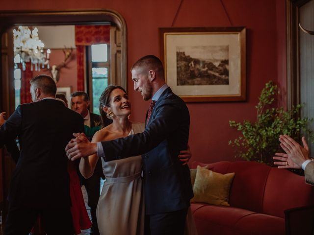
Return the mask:
<svg viewBox="0 0 314 235">
<path fill-rule="evenodd" d="M 111 161 L 143 154 L 145 234 L 180 235 L 193 196 L 189 168 L 177 158 L 188 141 L 188 109 L 165 83 L 163 66 L 156 56 L 139 59 L 131 73 L 134 90 L 144 100 L 152 99 L 144 132 L 98 143 L 78 134 L 67 145 L 67 155 L 74 161 L 97 152 Z"/>
</svg>

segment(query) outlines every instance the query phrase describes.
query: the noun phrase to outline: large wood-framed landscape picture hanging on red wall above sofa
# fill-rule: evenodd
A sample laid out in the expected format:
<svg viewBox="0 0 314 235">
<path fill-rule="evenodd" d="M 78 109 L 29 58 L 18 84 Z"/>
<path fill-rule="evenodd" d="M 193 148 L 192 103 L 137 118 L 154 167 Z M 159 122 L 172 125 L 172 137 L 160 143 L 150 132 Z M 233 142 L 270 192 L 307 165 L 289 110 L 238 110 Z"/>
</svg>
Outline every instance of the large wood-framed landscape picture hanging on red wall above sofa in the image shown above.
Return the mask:
<svg viewBox="0 0 314 235">
<path fill-rule="evenodd" d="M 159 28 L 160 57 L 185 102 L 243 101 L 245 27 Z"/>
</svg>

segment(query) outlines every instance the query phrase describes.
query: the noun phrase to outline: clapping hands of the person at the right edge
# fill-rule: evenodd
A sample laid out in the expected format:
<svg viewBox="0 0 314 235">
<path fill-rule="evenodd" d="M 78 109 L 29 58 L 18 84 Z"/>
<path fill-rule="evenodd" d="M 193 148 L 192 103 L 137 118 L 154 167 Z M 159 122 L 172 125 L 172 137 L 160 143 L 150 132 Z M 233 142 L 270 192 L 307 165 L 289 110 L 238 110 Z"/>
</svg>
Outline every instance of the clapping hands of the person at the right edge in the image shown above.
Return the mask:
<svg viewBox="0 0 314 235">
<path fill-rule="evenodd" d="M 309 146 L 305 137 L 302 137 L 303 147 L 288 135 L 281 135 L 279 141 L 286 153 L 276 153 L 273 157 L 277 160 L 274 164 L 278 165 L 278 168 L 300 169 L 302 164 L 310 159 Z"/>
</svg>

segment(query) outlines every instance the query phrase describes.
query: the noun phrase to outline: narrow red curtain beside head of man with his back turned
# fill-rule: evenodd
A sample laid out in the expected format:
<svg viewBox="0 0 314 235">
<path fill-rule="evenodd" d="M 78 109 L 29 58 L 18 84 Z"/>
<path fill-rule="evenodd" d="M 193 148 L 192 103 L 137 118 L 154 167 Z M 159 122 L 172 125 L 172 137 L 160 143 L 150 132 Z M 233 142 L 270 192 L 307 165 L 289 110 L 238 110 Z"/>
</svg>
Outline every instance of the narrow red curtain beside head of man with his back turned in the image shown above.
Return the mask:
<svg viewBox="0 0 314 235">
<path fill-rule="evenodd" d="M 26 63 L 26 70 L 23 71 L 22 68 L 22 77 L 21 77 L 21 104 L 30 103 L 30 84 L 29 81 L 33 78 L 33 72 L 30 71 L 30 62 Z"/>
</svg>

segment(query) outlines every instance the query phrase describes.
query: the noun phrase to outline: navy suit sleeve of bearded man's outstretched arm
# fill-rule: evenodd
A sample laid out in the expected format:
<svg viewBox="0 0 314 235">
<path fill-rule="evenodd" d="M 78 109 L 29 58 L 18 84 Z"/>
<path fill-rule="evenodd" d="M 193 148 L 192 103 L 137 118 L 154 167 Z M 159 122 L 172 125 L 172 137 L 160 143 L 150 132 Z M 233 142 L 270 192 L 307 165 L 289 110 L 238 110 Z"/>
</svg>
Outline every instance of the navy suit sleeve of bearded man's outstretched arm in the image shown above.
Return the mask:
<svg viewBox="0 0 314 235">
<path fill-rule="evenodd" d="M 144 132 L 102 142 L 105 161 L 144 154 L 165 140 L 170 133 L 179 127 L 184 118 L 189 122 L 188 111 L 187 115 L 184 115 L 185 106 L 171 101 L 162 102 L 155 111 L 155 118 L 149 123 Z M 182 118 L 181 121 L 180 118 Z"/>
</svg>

